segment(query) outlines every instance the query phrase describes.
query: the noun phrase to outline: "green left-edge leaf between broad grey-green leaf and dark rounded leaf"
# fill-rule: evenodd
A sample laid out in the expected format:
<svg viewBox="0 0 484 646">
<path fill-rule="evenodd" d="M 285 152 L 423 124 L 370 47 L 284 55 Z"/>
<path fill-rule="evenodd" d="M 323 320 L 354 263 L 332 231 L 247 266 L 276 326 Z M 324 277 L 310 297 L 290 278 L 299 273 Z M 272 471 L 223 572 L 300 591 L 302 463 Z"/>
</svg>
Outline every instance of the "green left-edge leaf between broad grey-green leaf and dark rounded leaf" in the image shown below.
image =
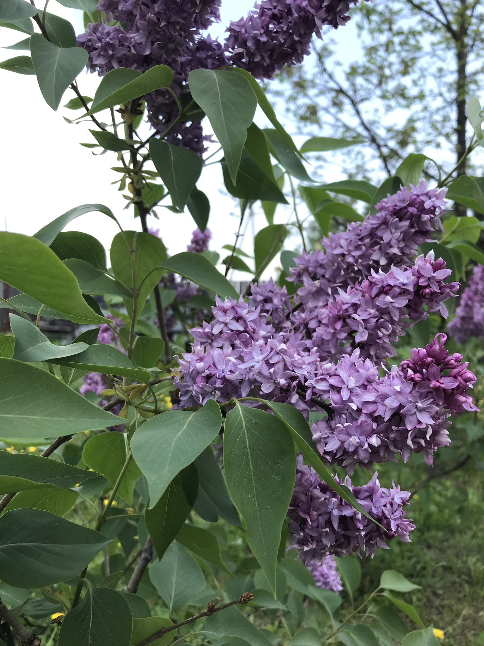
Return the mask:
<svg viewBox="0 0 484 646">
<path fill-rule="evenodd" d="M 40 455 L 0 451 L 0 494 L 38 489 L 39 485 L 69 489 L 98 475 Z"/>
</svg>

